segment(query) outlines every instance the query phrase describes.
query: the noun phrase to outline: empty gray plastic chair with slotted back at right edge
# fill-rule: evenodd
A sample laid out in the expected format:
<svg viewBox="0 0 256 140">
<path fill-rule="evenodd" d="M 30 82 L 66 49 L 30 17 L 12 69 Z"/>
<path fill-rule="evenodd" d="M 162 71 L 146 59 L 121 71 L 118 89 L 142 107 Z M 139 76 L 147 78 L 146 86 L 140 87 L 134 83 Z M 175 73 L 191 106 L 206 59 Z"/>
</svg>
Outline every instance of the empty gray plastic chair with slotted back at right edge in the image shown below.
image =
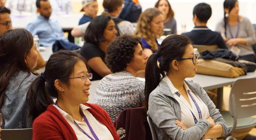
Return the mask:
<svg viewBox="0 0 256 140">
<path fill-rule="evenodd" d="M 231 135 L 234 130 L 249 130 L 256 126 L 256 78 L 236 80 L 230 91 L 229 112 L 221 114 L 228 126 L 226 140 L 235 139 Z"/>
</svg>

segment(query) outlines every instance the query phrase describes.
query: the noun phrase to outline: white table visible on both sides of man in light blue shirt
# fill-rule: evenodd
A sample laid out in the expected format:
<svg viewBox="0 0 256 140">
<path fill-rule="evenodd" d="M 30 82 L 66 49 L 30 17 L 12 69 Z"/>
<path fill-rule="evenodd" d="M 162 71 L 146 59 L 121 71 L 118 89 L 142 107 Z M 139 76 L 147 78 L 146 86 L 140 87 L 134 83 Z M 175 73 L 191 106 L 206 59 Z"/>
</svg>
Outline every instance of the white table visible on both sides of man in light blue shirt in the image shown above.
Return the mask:
<svg viewBox="0 0 256 140">
<path fill-rule="evenodd" d="M 73 29 L 78 26 L 79 20 L 82 18 L 83 14 L 71 14 L 71 15 L 52 15 L 51 18 L 57 18 L 60 26 L 63 30 Z M 26 28 L 28 23 L 35 20 L 37 15 L 11 15 L 12 27 L 13 28 Z"/>
</svg>

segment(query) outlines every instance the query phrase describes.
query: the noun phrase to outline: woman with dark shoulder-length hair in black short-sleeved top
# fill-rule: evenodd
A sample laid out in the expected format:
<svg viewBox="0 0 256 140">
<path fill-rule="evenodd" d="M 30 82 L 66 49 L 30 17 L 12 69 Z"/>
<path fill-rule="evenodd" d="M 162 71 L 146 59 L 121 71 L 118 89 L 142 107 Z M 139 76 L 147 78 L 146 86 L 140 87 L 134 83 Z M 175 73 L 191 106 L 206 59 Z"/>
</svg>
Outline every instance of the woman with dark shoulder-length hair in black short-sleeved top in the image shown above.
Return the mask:
<svg viewBox="0 0 256 140">
<path fill-rule="evenodd" d="M 116 37 L 115 23 L 111 16 L 100 15 L 93 18 L 85 32 L 85 44 L 80 54 L 85 57 L 90 66 L 93 79 L 100 80 L 112 73 L 105 62 L 109 43 Z"/>
</svg>

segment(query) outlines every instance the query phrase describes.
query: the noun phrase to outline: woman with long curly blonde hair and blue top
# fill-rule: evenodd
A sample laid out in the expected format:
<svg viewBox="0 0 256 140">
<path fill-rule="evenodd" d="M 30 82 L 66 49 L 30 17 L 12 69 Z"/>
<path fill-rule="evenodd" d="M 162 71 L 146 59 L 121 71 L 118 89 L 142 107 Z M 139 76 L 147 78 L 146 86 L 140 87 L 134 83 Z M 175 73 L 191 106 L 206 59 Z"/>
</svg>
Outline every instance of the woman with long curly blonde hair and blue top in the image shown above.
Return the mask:
<svg viewBox="0 0 256 140">
<path fill-rule="evenodd" d="M 149 8 L 141 13 L 137 21 L 135 35 L 141 37 L 143 52 L 150 56 L 156 52 L 160 44 L 156 38 L 163 34 L 163 14 L 156 8 Z"/>
</svg>

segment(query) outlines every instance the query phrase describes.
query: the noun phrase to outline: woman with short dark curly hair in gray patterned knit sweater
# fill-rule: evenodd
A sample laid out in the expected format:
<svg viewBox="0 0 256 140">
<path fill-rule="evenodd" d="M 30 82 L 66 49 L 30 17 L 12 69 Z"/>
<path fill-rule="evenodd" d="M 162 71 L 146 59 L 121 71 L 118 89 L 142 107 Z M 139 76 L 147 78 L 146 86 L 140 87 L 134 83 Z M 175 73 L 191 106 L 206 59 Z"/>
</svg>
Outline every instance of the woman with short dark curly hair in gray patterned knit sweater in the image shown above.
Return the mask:
<svg viewBox="0 0 256 140">
<path fill-rule="evenodd" d="M 144 82 L 135 77 L 145 69 L 147 56 L 141 38 L 123 35 L 109 44 L 107 65 L 113 74 L 102 78 L 96 89 L 95 103 L 105 109 L 111 120 L 129 107 L 140 107 L 144 101 Z"/>
</svg>

